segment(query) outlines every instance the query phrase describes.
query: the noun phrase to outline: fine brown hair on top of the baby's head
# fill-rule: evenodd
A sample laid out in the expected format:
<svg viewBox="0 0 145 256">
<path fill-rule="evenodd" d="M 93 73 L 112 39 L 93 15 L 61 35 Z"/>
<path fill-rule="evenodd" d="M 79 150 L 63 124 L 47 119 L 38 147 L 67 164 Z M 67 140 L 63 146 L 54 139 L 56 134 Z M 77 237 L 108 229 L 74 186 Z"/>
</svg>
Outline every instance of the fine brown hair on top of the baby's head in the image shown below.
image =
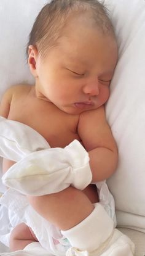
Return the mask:
<svg viewBox="0 0 145 256">
<path fill-rule="evenodd" d="M 86 15 L 86 19 L 91 20 L 92 25 L 103 33 L 114 35 L 108 10 L 97 0 L 52 0 L 45 4 L 36 17 L 26 46 L 27 57 L 29 45 L 36 46 L 39 54 L 44 57 L 47 49 L 57 46 L 69 18 L 80 14 Z"/>
</svg>

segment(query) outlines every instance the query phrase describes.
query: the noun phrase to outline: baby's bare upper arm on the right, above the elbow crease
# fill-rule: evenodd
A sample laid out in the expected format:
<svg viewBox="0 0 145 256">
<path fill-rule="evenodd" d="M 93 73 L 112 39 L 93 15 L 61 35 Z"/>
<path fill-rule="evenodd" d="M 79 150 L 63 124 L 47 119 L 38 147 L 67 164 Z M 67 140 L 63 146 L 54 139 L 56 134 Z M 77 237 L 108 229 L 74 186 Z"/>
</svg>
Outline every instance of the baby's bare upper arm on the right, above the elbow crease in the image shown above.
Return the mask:
<svg viewBox="0 0 145 256">
<path fill-rule="evenodd" d="M 78 134 L 87 151 L 96 147 L 115 147 L 103 106 L 80 115 Z"/>
</svg>

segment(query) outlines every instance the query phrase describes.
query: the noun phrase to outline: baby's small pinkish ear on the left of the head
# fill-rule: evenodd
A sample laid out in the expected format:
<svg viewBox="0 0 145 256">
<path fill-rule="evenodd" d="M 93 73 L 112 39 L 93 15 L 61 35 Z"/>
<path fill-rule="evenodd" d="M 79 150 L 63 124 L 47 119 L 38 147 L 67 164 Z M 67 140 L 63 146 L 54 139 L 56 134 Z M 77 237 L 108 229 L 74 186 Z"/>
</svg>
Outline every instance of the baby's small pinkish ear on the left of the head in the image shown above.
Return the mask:
<svg viewBox="0 0 145 256">
<path fill-rule="evenodd" d="M 28 65 L 31 71 L 31 74 L 36 78 L 37 70 L 36 70 L 36 62 L 37 62 L 38 51 L 36 46 L 29 45 L 28 48 Z"/>
</svg>

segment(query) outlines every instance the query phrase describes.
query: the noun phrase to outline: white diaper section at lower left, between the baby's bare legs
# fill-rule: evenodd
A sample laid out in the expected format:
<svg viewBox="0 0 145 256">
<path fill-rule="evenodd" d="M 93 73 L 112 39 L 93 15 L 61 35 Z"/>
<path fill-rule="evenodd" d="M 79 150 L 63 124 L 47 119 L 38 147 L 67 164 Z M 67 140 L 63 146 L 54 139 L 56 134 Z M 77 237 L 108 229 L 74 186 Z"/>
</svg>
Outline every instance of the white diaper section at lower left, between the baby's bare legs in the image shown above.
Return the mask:
<svg viewBox="0 0 145 256">
<path fill-rule="evenodd" d="M 58 228 L 45 220 L 29 205 L 28 199 L 23 194 L 8 189 L 0 199 L 0 241 L 9 247 L 9 237 L 12 229 L 24 222 L 31 227 L 41 247 L 52 252 L 53 255 L 61 254 L 55 247 L 53 237 L 60 239 L 62 236 Z"/>
</svg>

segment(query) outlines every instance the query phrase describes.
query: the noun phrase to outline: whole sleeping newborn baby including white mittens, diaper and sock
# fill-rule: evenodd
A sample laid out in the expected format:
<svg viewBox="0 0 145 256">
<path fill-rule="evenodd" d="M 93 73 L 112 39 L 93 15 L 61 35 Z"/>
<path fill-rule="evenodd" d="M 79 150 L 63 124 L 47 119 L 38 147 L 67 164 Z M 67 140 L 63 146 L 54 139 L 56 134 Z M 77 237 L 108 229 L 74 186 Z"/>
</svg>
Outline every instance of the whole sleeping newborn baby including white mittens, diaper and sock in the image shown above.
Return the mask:
<svg viewBox="0 0 145 256">
<path fill-rule="evenodd" d="M 1 124 L 16 147 L 7 155 L 1 142 L 3 180 L 27 176 L 6 182 L 1 199 L 9 209 L 13 202 L 17 218 L 10 250 L 39 241 L 53 255 L 133 255 L 130 239 L 114 228 L 114 200 L 104 181 L 117 166 L 104 112 L 117 43 L 103 4 L 52 0 L 34 22 L 27 54 L 35 84 L 9 88 L 0 105 Z M 20 159 L 9 157 L 23 143 Z"/>
</svg>

